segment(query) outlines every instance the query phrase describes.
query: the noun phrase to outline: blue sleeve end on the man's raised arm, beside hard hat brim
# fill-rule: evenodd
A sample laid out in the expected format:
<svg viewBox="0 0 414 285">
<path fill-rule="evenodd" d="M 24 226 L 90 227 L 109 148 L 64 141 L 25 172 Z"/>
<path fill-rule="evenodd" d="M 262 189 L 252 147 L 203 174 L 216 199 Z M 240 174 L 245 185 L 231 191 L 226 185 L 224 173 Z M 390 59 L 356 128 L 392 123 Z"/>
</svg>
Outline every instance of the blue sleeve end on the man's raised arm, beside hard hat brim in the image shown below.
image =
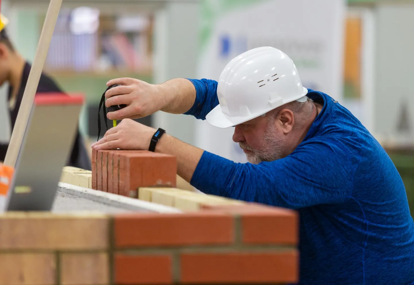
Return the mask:
<svg viewBox="0 0 414 285">
<path fill-rule="evenodd" d="M 206 115 L 219 104 L 217 97 L 217 81 L 211 79 L 189 79 L 196 91 L 195 102 L 185 115 L 193 115 L 197 119 L 206 119 Z"/>
</svg>

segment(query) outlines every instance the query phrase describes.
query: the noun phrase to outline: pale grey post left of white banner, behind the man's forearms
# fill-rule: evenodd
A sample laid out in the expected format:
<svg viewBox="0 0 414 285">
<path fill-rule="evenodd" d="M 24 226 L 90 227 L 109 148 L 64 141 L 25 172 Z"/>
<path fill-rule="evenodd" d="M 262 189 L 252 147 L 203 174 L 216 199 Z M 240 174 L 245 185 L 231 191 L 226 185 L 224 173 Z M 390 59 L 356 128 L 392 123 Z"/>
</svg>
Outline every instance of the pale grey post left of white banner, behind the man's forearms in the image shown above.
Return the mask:
<svg viewBox="0 0 414 285">
<path fill-rule="evenodd" d="M 154 83 L 196 76 L 199 43 L 199 7 L 195 2 L 167 2 L 155 16 Z M 157 112 L 154 127 L 194 144 L 195 119 L 191 116 Z"/>
</svg>

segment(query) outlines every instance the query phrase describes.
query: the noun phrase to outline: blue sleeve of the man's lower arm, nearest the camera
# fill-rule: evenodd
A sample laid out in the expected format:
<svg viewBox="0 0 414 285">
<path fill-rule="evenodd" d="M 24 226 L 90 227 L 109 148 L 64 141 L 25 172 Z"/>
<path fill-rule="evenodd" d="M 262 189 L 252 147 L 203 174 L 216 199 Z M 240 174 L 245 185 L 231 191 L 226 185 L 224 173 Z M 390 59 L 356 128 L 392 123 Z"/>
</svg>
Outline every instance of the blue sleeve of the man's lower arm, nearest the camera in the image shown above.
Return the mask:
<svg viewBox="0 0 414 285">
<path fill-rule="evenodd" d="M 344 202 L 352 194 L 353 174 L 344 145 L 313 140 L 287 157 L 260 164 L 204 152 L 191 184 L 206 194 L 299 209 Z"/>
</svg>

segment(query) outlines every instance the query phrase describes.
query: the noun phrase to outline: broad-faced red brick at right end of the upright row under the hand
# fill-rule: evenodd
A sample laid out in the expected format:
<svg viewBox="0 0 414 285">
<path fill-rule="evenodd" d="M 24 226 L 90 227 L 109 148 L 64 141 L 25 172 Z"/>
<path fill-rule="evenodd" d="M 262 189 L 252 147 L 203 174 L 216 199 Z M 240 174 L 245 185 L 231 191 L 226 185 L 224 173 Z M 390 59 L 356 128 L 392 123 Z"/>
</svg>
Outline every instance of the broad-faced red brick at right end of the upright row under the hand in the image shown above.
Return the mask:
<svg viewBox="0 0 414 285">
<path fill-rule="evenodd" d="M 119 188 L 121 195 L 128 196 L 130 190 L 139 187 L 176 187 L 177 161 L 171 155 L 154 152 L 121 153 L 120 164 L 123 165 L 120 179 L 124 179 Z"/>
</svg>

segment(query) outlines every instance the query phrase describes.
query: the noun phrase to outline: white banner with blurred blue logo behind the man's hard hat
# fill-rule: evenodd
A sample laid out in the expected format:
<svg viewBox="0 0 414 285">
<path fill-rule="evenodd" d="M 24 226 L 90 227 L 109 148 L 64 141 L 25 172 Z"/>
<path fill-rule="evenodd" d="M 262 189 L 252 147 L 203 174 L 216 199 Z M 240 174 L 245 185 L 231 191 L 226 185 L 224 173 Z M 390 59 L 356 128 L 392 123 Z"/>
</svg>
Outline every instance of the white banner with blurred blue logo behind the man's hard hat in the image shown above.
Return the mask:
<svg viewBox="0 0 414 285">
<path fill-rule="evenodd" d="M 345 9 L 344 0 L 204 0 L 197 78 L 218 80 L 233 57 L 272 46 L 295 62 L 304 87 L 341 102 Z M 246 162 L 233 131 L 198 120 L 196 145 Z"/>
</svg>

